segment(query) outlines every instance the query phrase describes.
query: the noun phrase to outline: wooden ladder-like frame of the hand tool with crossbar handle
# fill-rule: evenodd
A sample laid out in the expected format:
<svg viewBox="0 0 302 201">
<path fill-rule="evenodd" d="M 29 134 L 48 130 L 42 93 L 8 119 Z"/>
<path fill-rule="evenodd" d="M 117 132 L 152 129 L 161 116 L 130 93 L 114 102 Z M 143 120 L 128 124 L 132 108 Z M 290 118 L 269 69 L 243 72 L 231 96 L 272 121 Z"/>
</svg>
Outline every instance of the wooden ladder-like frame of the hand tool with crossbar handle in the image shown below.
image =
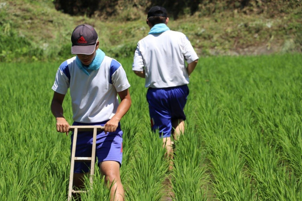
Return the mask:
<svg viewBox="0 0 302 201">
<path fill-rule="evenodd" d="M 69 175 L 69 189 L 68 189 L 68 201 L 71 200 L 71 194 L 72 193 L 84 193 L 87 191 L 75 191 L 72 190 L 72 184 L 73 184 L 73 171 L 74 171 L 74 165 L 76 162 L 86 162 L 91 161 L 90 166 L 90 184 L 92 188 L 93 184 L 93 175 L 94 175 L 94 166 L 95 166 L 95 159 L 96 159 L 96 132 L 97 131 L 103 131 L 104 126 L 70 126 L 70 131 L 73 131 L 73 142 L 72 142 L 72 151 L 71 151 L 71 164 L 70 164 L 70 175 Z M 92 153 L 91 157 L 75 157 L 76 155 L 76 139 L 78 135 L 78 131 L 93 131 L 93 139 L 92 139 Z"/>
</svg>

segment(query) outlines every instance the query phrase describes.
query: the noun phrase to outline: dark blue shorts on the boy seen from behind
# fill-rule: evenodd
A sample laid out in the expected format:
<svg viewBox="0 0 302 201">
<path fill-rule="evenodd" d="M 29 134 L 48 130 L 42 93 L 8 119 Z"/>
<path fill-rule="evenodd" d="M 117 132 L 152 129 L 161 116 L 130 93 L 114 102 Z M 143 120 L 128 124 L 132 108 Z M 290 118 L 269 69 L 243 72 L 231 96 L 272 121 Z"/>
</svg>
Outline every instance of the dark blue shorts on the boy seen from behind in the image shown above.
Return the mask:
<svg viewBox="0 0 302 201">
<path fill-rule="evenodd" d="M 161 138 L 171 136 L 172 121 L 175 119 L 186 120 L 183 109 L 188 95 L 187 85 L 148 89 L 147 101 L 153 132 L 158 130 Z"/>
</svg>

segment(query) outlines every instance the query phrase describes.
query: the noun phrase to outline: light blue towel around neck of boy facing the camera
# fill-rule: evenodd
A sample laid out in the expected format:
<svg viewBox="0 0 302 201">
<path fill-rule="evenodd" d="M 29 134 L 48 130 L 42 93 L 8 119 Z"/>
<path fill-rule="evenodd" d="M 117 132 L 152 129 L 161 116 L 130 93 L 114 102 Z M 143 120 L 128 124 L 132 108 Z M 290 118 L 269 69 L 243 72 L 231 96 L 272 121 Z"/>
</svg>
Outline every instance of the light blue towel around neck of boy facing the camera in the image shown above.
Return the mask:
<svg viewBox="0 0 302 201">
<path fill-rule="evenodd" d="M 89 76 L 90 75 L 89 71 L 98 70 L 100 68 L 101 63 L 104 60 L 104 57 L 105 57 L 105 53 L 102 50 L 97 49 L 96 56 L 88 66 L 83 65 L 83 63 L 80 61 L 78 56 L 76 56 L 76 64 L 85 74 Z"/>
</svg>

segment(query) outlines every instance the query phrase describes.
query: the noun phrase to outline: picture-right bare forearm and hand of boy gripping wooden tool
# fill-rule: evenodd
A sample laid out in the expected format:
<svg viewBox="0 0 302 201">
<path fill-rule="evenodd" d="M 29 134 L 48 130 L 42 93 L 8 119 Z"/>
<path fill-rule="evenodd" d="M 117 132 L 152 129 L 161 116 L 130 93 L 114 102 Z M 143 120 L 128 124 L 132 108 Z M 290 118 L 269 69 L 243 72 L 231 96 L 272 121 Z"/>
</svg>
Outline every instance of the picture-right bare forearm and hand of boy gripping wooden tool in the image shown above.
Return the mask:
<svg viewBox="0 0 302 201">
<path fill-rule="evenodd" d="M 104 125 L 104 131 L 107 132 L 114 132 L 120 122 L 120 119 L 128 112 L 131 106 L 131 97 L 129 93 L 129 89 L 117 92 L 120 97 L 120 104 L 117 107 L 115 115 Z"/>
</svg>

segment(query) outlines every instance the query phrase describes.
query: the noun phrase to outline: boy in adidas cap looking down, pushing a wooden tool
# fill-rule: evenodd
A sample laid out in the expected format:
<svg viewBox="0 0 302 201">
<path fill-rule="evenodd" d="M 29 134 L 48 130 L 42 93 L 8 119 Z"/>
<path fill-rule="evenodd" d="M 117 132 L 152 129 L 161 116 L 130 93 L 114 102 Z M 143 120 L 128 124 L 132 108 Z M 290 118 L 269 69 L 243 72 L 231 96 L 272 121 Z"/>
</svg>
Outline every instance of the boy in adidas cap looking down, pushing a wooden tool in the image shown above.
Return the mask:
<svg viewBox="0 0 302 201">
<path fill-rule="evenodd" d="M 71 53 L 75 57 L 63 62 L 52 86 L 54 96 L 51 112 L 56 118 L 58 132 L 68 135 L 69 123 L 63 116 L 63 100 L 70 89 L 72 125 L 101 125 L 104 131 L 97 133 L 96 157 L 101 174 L 111 188 L 111 200 L 123 200 L 124 189 L 120 181 L 122 163 L 122 136 L 120 119 L 131 106 L 129 82 L 119 62 L 105 56 L 99 49 L 96 30 L 87 24 L 77 26 L 71 35 Z M 120 104 L 117 94 L 120 97 Z M 87 157 L 92 150 L 92 132 L 79 132 L 76 157 Z M 73 135 L 71 135 L 72 147 Z M 88 174 L 89 163 L 75 163 L 74 183 L 84 186 L 83 177 Z M 114 196 L 115 195 L 115 196 Z"/>
</svg>

